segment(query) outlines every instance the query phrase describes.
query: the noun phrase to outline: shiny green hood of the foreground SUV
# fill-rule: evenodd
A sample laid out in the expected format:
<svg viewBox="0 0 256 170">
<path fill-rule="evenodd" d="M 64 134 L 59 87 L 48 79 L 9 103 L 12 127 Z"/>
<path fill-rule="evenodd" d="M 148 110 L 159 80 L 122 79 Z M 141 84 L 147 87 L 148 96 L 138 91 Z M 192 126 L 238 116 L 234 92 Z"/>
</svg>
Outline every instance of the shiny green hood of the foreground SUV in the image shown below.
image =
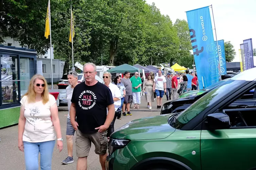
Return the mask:
<svg viewBox="0 0 256 170">
<path fill-rule="evenodd" d="M 165 114 L 137 119 L 127 123 L 112 133 L 115 139 L 149 140 L 164 139 L 175 131 L 168 124 L 168 118 L 173 114 Z"/>
</svg>

